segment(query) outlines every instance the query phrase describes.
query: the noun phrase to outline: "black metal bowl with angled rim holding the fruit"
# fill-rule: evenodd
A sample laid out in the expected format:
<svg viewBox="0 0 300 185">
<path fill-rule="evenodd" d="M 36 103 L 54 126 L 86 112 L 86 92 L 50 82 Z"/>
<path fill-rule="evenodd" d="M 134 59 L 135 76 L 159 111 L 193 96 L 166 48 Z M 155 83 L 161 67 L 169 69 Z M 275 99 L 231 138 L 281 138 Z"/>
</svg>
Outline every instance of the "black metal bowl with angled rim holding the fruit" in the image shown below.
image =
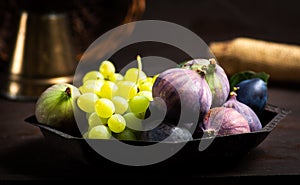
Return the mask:
<svg viewBox="0 0 300 185">
<path fill-rule="evenodd" d="M 270 134 L 277 124 L 289 114 L 288 110 L 279 108 L 274 105 L 268 104 L 260 117 L 263 128 L 259 131 L 235 134 L 227 136 L 217 136 L 212 141 L 211 145 L 204 151 L 199 151 L 199 143 L 209 138 L 195 138 L 187 142 L 184 147 L 172 157 L 167 160 L 156 163 L 152 166 L 173 166 L 174 169 L 178 167 L 199 166 L 202 169 L 208 168 L 222 168 L 229 164 L 235 164 L 240 158 L 247 155 L 250 150 L 258 146 Z M 31 116 L 25 120 L 26 122 L 39 127 L 45 137 L 49 146 L 59 148 L 75 159 L 84 161 L 92 165 L 101 165 L 106 167 L 122 167 L 123 165 L 114 163 L 100 154 L 95 152 L 83 138 L 74 137 L 69 134 L 63 133 L 59 130 L 53 129 L 49 126 L 37 122 L 35 116 Z M 102 140 L 101 142 L 108 142 L 113 145 L 115 140 Z M 124 141 L 131 145 L 149 145 L 156 142 L 148 141 Z M 172 149 L 176 143 L 164 143 L 166 147 Z M 159 151 L 158 151 L 159 152 Z"/>
</svg>

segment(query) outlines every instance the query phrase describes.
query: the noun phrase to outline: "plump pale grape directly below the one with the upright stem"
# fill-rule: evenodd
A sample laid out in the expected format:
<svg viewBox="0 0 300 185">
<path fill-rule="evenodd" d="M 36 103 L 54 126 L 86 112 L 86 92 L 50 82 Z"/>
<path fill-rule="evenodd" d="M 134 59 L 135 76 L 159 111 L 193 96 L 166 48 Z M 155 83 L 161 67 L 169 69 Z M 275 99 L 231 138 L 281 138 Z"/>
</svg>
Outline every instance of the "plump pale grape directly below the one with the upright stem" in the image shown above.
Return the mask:
<svg viewBox="0 0 300 185">
<path fill-rule="evenodd" d="M 126 100 L 134 97 L 138 92 L 137 85 L 132 81 L 119 81 L 117 86 L 116 96 L 122 96 Z"/>
</svg>

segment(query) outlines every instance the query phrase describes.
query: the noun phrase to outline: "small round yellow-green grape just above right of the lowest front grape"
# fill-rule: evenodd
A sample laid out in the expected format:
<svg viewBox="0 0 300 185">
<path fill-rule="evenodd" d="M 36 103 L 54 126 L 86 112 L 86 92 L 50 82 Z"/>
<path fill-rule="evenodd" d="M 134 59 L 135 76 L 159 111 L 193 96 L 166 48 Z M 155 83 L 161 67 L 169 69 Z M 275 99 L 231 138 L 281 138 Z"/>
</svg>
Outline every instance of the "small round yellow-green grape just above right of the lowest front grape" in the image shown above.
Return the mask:
<svg viewBox="0 0 300 185">
<path fill-rule="evenodd" d="M 126 128 L 126 121 L 121 114 L 114 114 L 107 120 L 108 128 L 114 133 L 120 133 Z"/>
</svg>

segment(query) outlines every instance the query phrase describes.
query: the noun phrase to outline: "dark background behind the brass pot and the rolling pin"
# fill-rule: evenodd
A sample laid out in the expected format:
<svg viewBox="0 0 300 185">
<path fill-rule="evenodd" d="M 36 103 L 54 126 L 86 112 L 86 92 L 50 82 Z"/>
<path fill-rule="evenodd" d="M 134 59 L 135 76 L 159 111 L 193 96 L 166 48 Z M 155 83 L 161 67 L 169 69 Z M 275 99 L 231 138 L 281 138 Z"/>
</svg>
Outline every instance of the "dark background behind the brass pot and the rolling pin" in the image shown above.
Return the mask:
<svg viewBox="0 0 300 185">
<path fill-rule="evenodd" d="M 57 11 L 61 9 L 68 11 L 74 45 L 77 54 L 80 55 L 95 39 L 122 23 L 131 0 L 66 0 L 63 2 L 53 0 L 51 6 L 44 1 L 41 3 L 36 0 L 1 1 L 0 67 L 2 68 L 7 65 L 13 48 L 18 13 L 22 8 L 18 2 L 22 2 L 20 4 L 26 5 L 25 7 L 31 4 L 24 2 L 33 2 L 34 10 L 60 7 Z M 67 6 L 68 2 L 72 6 Z M 140 17 L 141 20 L 164 20 L 179 24 L 195 32 L 207 44 L 211 41 L 229 40 L 238 36 L 300 44 L 300 2 L 297 0 L 146 0 L 145 2 L 146 7 Z M 78 23 L 83 27 L 78 26 Z M 143 52 L 162 54 L 165 47 L 161 47 L 148 46 L 149 49 Z M 138 47 L 136 48 L 138 50 Z"/>
</svg>

